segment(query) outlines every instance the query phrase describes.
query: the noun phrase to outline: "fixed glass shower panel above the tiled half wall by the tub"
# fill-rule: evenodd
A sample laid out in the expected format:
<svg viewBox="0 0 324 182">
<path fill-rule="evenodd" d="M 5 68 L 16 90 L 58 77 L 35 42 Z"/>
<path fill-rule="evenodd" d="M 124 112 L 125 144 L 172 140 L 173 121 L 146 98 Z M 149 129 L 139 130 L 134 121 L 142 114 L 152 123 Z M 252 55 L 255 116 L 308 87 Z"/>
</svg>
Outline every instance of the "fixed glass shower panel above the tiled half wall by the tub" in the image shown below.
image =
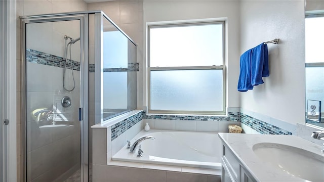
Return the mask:
<svg viewBox="0 0 324 182">
<path fill-rule="evenodd" d="M 136 45 L 109 20 L 103 24 L 104 120 L 136 108 Z"/>
</svg>

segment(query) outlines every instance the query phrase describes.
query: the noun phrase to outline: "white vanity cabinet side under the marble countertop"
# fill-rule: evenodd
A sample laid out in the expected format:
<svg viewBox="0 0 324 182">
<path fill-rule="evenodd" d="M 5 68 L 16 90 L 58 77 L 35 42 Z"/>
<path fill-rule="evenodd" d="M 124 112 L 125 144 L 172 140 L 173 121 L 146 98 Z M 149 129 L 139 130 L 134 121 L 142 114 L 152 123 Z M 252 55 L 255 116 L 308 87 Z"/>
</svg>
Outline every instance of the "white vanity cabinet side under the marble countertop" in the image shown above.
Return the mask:
<svg viewBox="0 0 324 182">
<path fill-rule="evenodd" d="M 256 181 L 250 172 L 233 154 L 230 148 L 222 143 L 222 182 Z"/>
</svg>

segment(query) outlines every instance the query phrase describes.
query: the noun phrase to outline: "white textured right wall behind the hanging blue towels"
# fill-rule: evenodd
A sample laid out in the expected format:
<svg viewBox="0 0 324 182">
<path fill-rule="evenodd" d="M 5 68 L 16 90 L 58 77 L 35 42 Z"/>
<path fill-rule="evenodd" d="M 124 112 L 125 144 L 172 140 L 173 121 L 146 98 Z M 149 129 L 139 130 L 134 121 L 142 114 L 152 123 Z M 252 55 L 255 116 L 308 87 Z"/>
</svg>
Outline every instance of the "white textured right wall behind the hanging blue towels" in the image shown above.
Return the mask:
<svg viewBox="0 0 324 182">
<path fill-rule="evenodd" d="M 305 122 L 304 1 L 241 1 L 240 54 L 268 44 L 270 76 L 240 94 L 240 106 L 291 124 Z"/>
</svg>

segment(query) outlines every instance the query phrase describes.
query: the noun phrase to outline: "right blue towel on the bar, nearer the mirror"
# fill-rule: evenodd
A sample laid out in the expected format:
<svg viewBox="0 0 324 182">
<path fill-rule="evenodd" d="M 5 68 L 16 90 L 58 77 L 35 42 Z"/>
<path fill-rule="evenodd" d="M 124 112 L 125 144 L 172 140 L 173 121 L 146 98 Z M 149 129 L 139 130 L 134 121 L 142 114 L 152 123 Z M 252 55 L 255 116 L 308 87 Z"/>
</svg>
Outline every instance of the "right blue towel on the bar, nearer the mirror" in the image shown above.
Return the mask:
<svg viewBox="0 0 324 182">
<path fill-rule="evenodd" d="M 261 43 L 252 49 L 251 55 L 251 84 L 264 83 L 262 77 L 269 76 L 268 46 Z"/>
</svg>

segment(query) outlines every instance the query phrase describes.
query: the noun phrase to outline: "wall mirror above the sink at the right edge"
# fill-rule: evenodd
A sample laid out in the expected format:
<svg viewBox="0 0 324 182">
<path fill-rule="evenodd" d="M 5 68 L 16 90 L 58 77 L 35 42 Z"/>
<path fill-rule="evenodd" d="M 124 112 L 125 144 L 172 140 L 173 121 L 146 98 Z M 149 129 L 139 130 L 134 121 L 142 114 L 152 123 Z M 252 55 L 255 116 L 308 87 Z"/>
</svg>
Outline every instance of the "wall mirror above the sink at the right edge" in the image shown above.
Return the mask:
<svg viewBox="0 0 324 182">
<path fill-rule="evenodd" d="M 324 1 L 305 2 L 305 120 L 324 127 Z"/>
</svg>

